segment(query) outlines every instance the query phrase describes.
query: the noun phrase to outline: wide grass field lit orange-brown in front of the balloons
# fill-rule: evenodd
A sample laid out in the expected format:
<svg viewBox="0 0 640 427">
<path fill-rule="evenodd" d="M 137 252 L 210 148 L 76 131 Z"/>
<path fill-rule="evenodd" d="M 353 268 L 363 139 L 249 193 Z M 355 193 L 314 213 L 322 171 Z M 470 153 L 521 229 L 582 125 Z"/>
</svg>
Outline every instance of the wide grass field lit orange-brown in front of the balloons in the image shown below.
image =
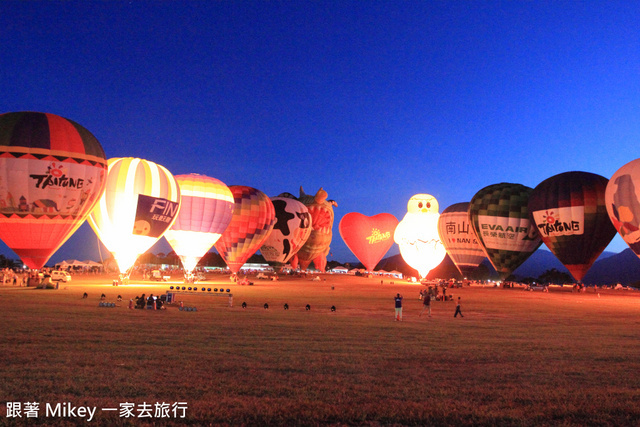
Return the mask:
<svg viewBox="0 0 640 427">
<path fill-rule="evenodd" d="M 86 424 L 46 413 L 66 402 L 97 408 L 91 425 L 640 424 L 637 292 L 452 289 L 465 316 L 454 319 L 453 302 L 418 317 L 421 287 L 399 280 L 201 286 L 230 288 L 234 306 L 180 295 L 198 311 L 129 310 L 129 298 L 168 286 L 106 277 L 0 287 L 0 424 Z M 98 307 L 103 292 L 124 301 Z M 393 319 L 397 292 L 403 322 Z M 14 402 L 22 418 L 6 416 Z M 125 404 L 133 416 L 121 416 Z"/>
</svg>

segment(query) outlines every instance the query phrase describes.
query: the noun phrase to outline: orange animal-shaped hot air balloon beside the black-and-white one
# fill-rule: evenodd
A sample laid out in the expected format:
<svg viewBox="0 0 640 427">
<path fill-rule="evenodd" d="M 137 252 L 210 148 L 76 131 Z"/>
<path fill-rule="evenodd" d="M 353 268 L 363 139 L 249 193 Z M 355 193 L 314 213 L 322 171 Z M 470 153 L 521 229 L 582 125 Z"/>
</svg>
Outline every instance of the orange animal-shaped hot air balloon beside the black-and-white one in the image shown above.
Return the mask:
<svg viewBox="0 0 640 427">
<path fill-rule="evenodd" d="M 311 235 L 307 242 L 300 248 L 292 265 L 300 261 L 300 267 L 307 269 L 313 262 L 320 271 L 327 267 L 327 255 L 333 238 L 333 207 L 338 206 L 334 200 L 327 200 L 328 194 L 320 188 L 315 196 L 305 194 L 300 187 L 300 200 L 311 214 Z"/>
</svg>

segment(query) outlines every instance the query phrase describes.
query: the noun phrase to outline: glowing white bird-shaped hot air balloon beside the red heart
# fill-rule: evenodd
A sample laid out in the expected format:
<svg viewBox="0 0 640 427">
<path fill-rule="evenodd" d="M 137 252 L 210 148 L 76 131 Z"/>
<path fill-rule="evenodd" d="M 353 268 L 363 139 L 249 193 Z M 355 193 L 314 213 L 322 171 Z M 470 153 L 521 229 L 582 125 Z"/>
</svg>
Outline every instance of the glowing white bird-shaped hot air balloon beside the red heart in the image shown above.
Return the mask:
<svg viewBox="0 0 640 427">
<path fill-rule="evenodd" d="M 438 201 L 430 194 L 416 194 L 396 228 L 394 240 L 402 259 L 418 270 L 420 278 L 440 265 L 447 251 L 438 235 Z"/>
</svg>

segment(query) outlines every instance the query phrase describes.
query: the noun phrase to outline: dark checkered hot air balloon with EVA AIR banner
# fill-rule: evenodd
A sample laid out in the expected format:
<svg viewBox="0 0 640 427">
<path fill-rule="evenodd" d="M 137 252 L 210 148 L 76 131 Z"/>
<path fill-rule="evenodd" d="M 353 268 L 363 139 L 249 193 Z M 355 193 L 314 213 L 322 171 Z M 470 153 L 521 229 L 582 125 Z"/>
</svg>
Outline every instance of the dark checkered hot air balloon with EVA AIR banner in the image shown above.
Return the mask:
<svg viewBox="0 0 640 427">
<path fill-rule="evenodd" d="M 521 184 L 493 184 L 469 204 L 469 221 L 489 261 L 506 279 L 542 244 L 529 219 L 532 189 Z"/>
</svg>

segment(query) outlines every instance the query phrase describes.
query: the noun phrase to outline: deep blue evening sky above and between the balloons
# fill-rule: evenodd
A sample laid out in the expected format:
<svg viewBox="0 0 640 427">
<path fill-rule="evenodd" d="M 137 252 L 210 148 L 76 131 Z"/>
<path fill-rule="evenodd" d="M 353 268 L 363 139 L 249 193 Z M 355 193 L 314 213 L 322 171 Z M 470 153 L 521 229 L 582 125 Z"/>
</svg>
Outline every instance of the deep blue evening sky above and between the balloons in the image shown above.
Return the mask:
<svg viewBox="0 0 640 427">
<path fill-rule="evenodd" d="M 0 111 L 70 118 L 176 175 L 324 187 L 329 259 L 355 260 L 348 212 L 400 220 L 416 193 L 442 212 L 639 157 L 638 22 L 633 1 L 5 0 Z M 96 253 L 85 225 L 52 261 Z"/>
</svg>

